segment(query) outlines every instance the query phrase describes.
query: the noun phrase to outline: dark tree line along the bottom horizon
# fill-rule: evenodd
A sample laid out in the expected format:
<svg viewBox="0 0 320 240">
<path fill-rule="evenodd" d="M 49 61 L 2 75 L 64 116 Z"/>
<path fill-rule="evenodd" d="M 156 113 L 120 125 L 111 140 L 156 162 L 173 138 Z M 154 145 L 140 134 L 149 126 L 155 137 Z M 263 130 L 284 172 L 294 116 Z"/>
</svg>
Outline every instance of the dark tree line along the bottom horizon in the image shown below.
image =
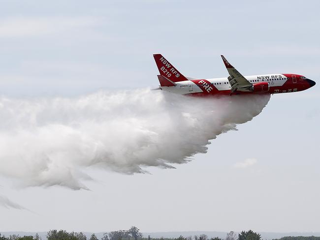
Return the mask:
<svg viewBox="0 0 320 240">
<path fill-rule="evenodd" d="M 0 240 L 42 240 L 38 234 L 35 236 L 19 236 L 19 235 L 10 235 L 9 237 L 2 236 L 0 233 Z M 49 230 L 46 235 L 46 240 L 99 240 L 95 234 L 92 234 L 90 238 L 82 232 L 71 232 L 68 233 L 65 230 Z M 128 230 L 118 230 L 112 231 L 109 233 L 104 233 L 101 240 L 261 240 L 261 235 L 249 230 L 249 231 L 242 231 L 238 235 L 231 231 L 227 233 L 224 239 L 219 237 L 215 238 L 208 238 L 207 235 L 201 234 L 199 236 L 189 236 L 183 237 L 180 236 L 179 238 L 151 238 L 150 235 L 147 238 L 144 238 L 140 230 L 132 226 Z M 320 237 L 283 237 L 280 239 L 274 240 L 320 240 Z"/>
</svg>

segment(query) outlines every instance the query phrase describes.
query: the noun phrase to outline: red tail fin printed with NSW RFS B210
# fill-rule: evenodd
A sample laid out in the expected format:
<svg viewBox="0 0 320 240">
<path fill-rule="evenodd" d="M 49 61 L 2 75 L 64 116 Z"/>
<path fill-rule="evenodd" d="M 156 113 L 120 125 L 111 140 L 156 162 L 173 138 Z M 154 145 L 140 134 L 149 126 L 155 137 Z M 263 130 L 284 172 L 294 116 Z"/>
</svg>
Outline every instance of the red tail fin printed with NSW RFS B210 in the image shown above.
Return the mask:
<svg viewBox="0 0 320 240">
<path fill-rule="evenodd" d="M 188 79 L 183 76 L 177 68 L 172 66 L 161 54 L 154 54 L 153 57 L 156 60 L 160 75 L 172 82 L 188 81 Z M 160 79 L 159 79 L 160 80 Z"/>
</svg>

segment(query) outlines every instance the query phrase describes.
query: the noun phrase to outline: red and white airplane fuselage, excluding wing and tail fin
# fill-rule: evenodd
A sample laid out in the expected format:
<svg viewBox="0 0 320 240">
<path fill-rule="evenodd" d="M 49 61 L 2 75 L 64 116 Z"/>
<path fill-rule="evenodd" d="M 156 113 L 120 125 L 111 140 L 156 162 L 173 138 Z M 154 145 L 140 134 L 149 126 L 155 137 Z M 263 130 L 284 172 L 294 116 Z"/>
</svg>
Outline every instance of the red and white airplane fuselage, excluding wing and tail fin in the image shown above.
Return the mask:
<svg viewBox="0 0 320 240">
<path fill-rule="evenodd" d="M 259 91 L 238 90 L 232 94 L 285 93 L 311 88 L 315 82 L 298 74 L 262 74 L 245 76 L 252 84 L 268 83 L 268 87 Z M 176 86 L 160 86 L 161 90 L 189 95 L 230 95 L 231 85 L 227 78 L 190 79 L 176 82 Z"/>
</svg>

